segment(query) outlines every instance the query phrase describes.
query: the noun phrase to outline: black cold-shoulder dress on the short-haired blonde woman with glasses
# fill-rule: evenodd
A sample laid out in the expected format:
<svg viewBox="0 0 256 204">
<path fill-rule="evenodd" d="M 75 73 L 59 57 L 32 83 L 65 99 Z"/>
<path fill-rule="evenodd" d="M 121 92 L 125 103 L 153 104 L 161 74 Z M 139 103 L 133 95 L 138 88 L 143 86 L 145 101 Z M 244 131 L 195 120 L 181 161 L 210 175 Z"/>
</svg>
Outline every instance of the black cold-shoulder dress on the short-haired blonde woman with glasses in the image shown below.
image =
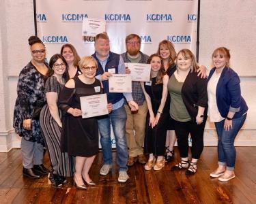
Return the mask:
<svg viewBox="0 0 256 204">
<path fill-rule="evenodd" d="M 61 131 L 61 151 L 72 156 L 93 156 L 98 153 L 97 118 L 74 117 L 66 113 L 70 107 L 81 109 L 80 97 L 102 93 L 100 81 L 93 84 L 81 82 L 74 77 L 75 88 L 63 87 L 59 95 L 59 107 L 63 110 L 63 129 Z"/>
</svg>

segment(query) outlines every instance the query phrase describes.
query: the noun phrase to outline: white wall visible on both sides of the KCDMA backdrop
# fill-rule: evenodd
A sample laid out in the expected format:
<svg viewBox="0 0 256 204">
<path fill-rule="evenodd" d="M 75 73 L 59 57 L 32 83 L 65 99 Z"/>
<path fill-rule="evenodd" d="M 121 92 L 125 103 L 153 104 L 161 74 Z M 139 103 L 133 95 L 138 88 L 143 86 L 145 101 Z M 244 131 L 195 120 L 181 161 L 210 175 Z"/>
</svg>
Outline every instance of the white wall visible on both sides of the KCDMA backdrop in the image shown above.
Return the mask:
<svg viewBox="0 0 256 204">
<path fill-rule="evenodd" d="M 70 0 L 71 1 L 71 0 Z M 18 73 L 29 62 L 27 39 L 34 34 L 33 1 L 0 1 L 0 152 L 20 145 L 12 129 Z M 199 63 L 211 67 L 210 56 L 219 46 L 231 50 L 231 67 L 241 75 L 242 95 L 249 106 L 248 118 L 236 145 L 256 146 L 256 1 L 201 0 Z M 17 70 L 17 69 L 12 69 Z M 205 145 L 216 145 L 213 124 L 205 130 Z"/>
</svg>

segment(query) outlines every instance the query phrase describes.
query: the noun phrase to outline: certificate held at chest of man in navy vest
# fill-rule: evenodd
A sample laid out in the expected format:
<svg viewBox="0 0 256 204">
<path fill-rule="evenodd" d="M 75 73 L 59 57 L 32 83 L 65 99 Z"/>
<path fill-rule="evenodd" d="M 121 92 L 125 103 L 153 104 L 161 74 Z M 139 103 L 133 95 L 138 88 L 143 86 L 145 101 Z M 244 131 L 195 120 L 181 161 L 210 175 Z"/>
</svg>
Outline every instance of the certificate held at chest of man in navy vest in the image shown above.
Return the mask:
<svg viewBox="0 0 256 204">
<path fill-rule="evenodd" d="M 109 92 L 132 92 L 130 74 L 112 74 L 109 77 Z"/>
</svg>

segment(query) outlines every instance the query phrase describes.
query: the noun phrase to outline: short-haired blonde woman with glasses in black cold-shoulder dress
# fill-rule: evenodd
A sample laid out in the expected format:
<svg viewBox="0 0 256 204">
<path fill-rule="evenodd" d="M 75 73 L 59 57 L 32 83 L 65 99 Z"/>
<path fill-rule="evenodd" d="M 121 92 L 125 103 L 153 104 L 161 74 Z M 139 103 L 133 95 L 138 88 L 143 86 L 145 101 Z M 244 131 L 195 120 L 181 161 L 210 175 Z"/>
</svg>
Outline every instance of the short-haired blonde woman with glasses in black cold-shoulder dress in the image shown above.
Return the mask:
<svg viewBox="0 0 256 204">
<path fill-rule="evenodd" d="M 97 118 L 82 118 L 80 97 L 102 93 L 102 85 L 95 78 L 97 65 L 92 56 L 81 58 L 82 74 L 69 80 L 59 95 L 59 105 L 65 114 L 61 151 L 76 156 L 74 184 L 79 189 L 87 188 L 84 182 L 95 185 L 89 177 L 89 169 L 98 153 L 98 121 Z M 111 110 L 111 104 L 108 109 Z"/>
</svg>

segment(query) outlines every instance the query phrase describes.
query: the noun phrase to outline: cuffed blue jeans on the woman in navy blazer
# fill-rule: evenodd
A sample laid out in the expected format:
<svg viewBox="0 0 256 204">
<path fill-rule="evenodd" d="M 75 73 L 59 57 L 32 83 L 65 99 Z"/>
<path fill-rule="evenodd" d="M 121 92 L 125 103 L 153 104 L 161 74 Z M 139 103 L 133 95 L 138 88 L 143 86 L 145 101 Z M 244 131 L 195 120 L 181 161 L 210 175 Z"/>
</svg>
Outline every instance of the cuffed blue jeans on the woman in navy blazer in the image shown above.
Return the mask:
<svg viewBox="0 0 256 204">
<path fill-rule="evenodd" d="M 218 134 L 218 165 L 227 165 L 227 170 L 233 171 L 235 168 L 236 148 L 233 143 L 245 119 L 246 114 L 240 118 L 234 118 L 232 120 L 232 129 L 229 129 L 229 131 L 224 129 L 225 120 L 215 122 Z"/>
</svg>

